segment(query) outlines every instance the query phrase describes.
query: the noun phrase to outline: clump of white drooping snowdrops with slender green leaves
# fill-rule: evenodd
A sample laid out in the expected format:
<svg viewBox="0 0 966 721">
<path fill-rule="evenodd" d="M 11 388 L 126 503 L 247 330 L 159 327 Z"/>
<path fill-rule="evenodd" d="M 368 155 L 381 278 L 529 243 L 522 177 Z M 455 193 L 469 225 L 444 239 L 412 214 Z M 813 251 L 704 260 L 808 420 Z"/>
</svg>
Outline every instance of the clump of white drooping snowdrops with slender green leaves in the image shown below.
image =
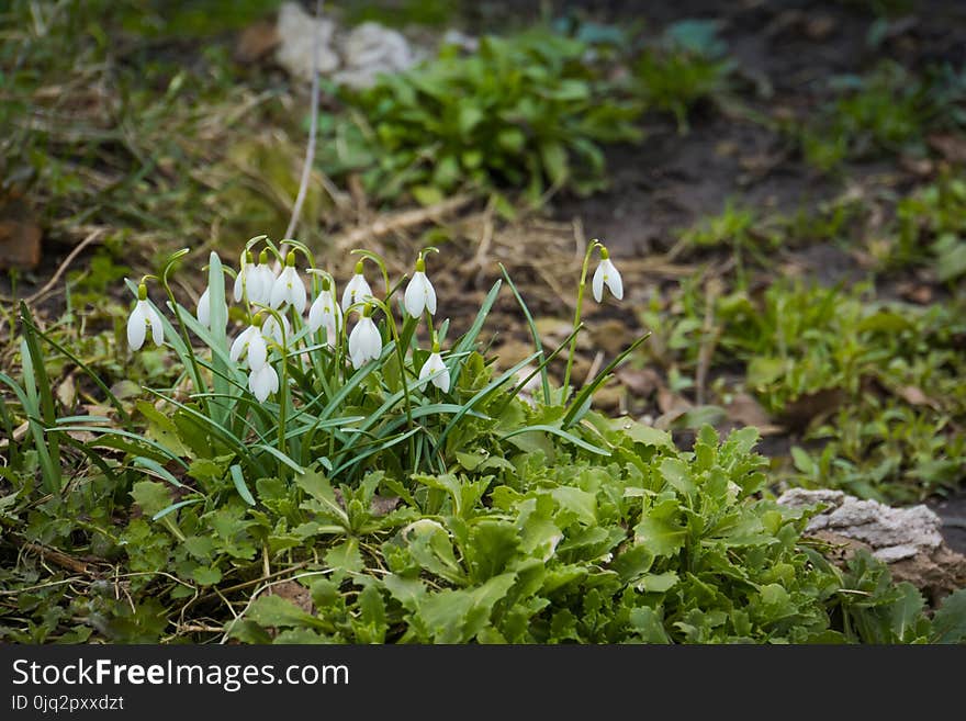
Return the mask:
<svg viewBox="0 0 966 721">
<path fill-rule="evenodd" d="M 149 337 L 177 353 L 192 386 L 190 397 L 148 391 L 180 419 L 177 433 L 189 436 L 182 438 L 184 446 L 207 444 L 211 455 L 233 457 L 232 478 L 249 503 L 254 478 L 318 467 L 349 480 L 371 467 L 377 457 L 381 465 L 395 466 L 403 475 L 446 472 L 456 447 L 467 442 L 465 435 L 454 432 L 460 425 L 475 420 L 486 427 L 492 421 L 492 432 L 499 418 L 492 415 L 488 401 L 503 393 L 505 408 L 538 374 L 542 396 L 537 401 L 566 408 L 539 430 L 606 455 L 606 449 L 584 439 L 575 427 L 593 392 L 638 343 L 579 393 L 569 387 L 574 341 L 583 327 L 584 288 L 596 250 L 600 262 L 591 281 L 594 298 L 602 302 L 605 288 L 618 300 L 624 295 L 607 249 L 593 241 L 577 289 L 573 331 L 552 352 L 540 345 L 529 311 L 504 271 L 530 320 L 536 347 L 496 378 L 475 343 L 502 281 L 491 289 L 470 329 L 450 343 L 449 322 L 439 320 L 442 304 L 437 304 L 427 270 L 435 248 L 420 252 L 412 275 L 395 283 L 381 257 L 355 250 L 355 273 L 339 295 L 337 280 L 316 266 L 307 247 L 294 240 L 280 247 L 259 236 L 248 241 L 237 269 L 211 254 L 207 286 L 193 312 L 179 303 L 170 285 L 178 260 L 187 254 L 182 250 L 159 277 L 146 275 L 138 284 L 128 281 L 137 301 L 127 322 L 127 340 L 136 351 Z M 164 308 L 149 298 L 153 282 L 167 294 Z M 231 334 L 229 318 L 236 320 Z M 428 340 L 420 343 L 420 335 Z M 564 387 L 551 388 L 547 365 L 568 346 Z M 481 410 L 484 406 L 487 413 Z M 538 426 L 497 432 L 507 437 L 535 429 Z M 151 452 L 139 463 L 173 481 L 164 464 L 181 459 L 161 442 L 144 442 Z"/>
</svg>

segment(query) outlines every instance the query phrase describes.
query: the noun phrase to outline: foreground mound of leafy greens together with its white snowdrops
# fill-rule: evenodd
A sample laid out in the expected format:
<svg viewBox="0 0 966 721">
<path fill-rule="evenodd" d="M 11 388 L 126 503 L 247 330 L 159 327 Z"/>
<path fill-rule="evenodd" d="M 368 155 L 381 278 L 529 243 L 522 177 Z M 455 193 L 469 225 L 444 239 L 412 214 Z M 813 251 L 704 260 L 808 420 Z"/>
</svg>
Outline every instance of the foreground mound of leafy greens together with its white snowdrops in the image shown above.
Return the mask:
<svg viewBox="0 0 966 721">
<path fill-rule="evenodd" d="M 195 313 L 171 291 L 180 254 L 156 279 L 167 306 L 149 300 L 151 278 L 131 284 L 137 302 L 128 342 L 139 349 L 150 339 L 171 349 L 183 373 L 177 393 L 147 388 L 155 403 L 137 402 L 137 414 L 117 399 L 113 420 L 74 416 L 50 424 L 43 408 L 31 410 L 41 440 L 69 438 L 83 453 L 87 481 L 37 497 L 23 463 L 8 478 L 13 489 L 0 499 L 0 523 L 16 529 L 22 542 L 67 552 L 81 542 L 88 557 L 123 560 L 123 574 L 112 578 L 123 578 L 125 598 L 97 575 L 78 597 L 42 584 L 21 597 L 21 620 L 0 629 L 3 638 L 962 638 L 958 597 L 933 626 L 918 593 L 894 586 L 877 562 L 861 557 L 842 572 L 822 559 L 802 536 L 808 514 L 777 506 L 765 493 L 754 429 L 722 442 L 705 428 L 693 451 L 683 452 L 663 431 L 591 412 L 594 388 L 627 353 L 580 392 L 544 378 L 542 392 L 526 398 L 520 390 L 528 379 L 515 374 L 518 368 L 496 374 L 473 348 L 498 284 L 443 360 L 447 324 L 433 322 L 425 258 L 406 283 L 401 323 L 394 298 L 403 283 L 391 284 L 381 260 L 364 251 L 344 294 L 344 316 L 336 316 L 334 279 L 310 268 L 315 288 L 305 320 L 294 256 L 312 266 L 311 256 L 300 244 L 287 245 L 294 250 L 252 239 L 252 251 L 265 250 L 257 263 L 245 252 L 237 271 L 212 254 Z M 598 247 L 588 248 L 581 294 Z M 279 275 L 272 255 L 284 261 Z M 379 294 L 363 285 L 366 262 L 382 270 Z M 232 273 L 240 301 L 229 308 Z M 605 286 L 622 295 L 603 248 L 589 285 L 598 302 Z M 229 315 L 247 326 L 231 345 Z M 348 322 L 337 317 L 352 315 L 348 333 Z M 428 354 L 415 340 L 424 319 Z M 24 312 L 25 327 L 29 322 Z M 362 342 L 357 331 L 370 324 L 375 335 Z M 573 334 L 581 327 L 579 309 Z M 570 340 L 549 353 L 538 346 L 527 359 L 536 363 L 530 375 Z M 433 356 L 439 362 L 430 365 Z M 4 406 L 7 425 L 9 416 Z M 81 440 L 80 432 L 93 438 Z M 29 564 L 2 574 L 20 585 L 36 578 Z"/>
</svg>

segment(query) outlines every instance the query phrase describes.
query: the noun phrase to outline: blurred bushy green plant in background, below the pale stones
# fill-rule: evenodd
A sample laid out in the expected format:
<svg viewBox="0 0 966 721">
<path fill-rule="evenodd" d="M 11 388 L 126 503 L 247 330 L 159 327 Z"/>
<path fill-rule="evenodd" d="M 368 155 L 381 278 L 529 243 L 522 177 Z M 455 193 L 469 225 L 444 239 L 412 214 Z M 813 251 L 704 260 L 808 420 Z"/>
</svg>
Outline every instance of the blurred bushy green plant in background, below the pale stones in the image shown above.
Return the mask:
<svg viewBox="0 0 966 721">
<path fill-rule="evenodd" d="M 368 90 L 342 89 L 349 120 L 335 120 L 319 161 L 361 172 L 373 196 L 408 191 L 431 203 L 462 187 L 604 187 L 600 143 L 633 140 L 639 108 L 604 92 L 587 45 L 549 32 L 486 36 L 479 53 L 439 57 Z"/>
</svg>

